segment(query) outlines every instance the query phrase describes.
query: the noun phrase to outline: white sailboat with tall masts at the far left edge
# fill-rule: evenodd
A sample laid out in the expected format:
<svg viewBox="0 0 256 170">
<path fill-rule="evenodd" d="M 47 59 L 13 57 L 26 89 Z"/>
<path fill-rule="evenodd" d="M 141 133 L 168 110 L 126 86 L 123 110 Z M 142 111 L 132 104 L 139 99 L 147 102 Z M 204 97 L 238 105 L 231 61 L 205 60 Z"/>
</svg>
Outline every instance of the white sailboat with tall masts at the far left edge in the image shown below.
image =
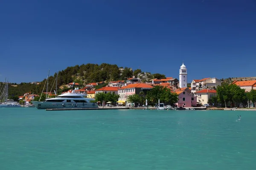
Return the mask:
<svg viewBox="0 0 256 170">
<path fill-rule="evenodd" d="M 9 82 L 6 81 L 3 83 L 2 88 L 0 89 L 0 108 L 19 108 L 20 104 L 15 102 L 12 99 L 8 99 L 8 84 Z"/>
</svg>

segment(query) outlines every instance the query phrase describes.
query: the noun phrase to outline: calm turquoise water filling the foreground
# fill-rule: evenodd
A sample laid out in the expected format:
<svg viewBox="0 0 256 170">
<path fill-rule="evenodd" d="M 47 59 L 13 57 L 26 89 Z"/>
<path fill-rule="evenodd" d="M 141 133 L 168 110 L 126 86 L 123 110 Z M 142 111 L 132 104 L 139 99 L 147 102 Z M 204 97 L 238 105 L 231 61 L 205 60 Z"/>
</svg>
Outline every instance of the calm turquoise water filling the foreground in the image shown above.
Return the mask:
<svg viewBox="0 0 256 170">
<path fill-rule="evenodd" d="M 0 108 L 0 170 L 255 170 L 255 122 L 254 111 Z"/>
</svg>

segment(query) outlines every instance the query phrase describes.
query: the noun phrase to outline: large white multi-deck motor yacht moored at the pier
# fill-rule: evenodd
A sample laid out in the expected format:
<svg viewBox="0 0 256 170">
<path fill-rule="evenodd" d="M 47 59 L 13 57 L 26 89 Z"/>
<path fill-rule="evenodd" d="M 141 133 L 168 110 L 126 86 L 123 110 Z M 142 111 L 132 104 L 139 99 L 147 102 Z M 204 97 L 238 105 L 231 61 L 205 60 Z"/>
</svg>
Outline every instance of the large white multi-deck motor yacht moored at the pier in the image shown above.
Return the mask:
<svg viewBox="0 0 256 170">
<path fill-rule="evenodd" d="M 59 108 L 98 108 L 94 99 L 85 98 L 87 94 L 76 94 L 75 90 L 71 93 L 58 95 L 55 98 L 48 98 L 44 102 L 33 101 L 38 109 L 59 109 Z"/>
</svg>

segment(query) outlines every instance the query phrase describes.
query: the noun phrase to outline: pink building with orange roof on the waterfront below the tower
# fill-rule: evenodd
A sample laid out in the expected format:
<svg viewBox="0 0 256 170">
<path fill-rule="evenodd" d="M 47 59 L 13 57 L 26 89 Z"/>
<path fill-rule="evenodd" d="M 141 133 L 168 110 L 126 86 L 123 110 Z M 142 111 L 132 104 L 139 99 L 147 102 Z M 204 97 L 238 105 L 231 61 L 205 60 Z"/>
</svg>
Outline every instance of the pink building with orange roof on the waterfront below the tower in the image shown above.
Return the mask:
<svg viewBox="0 0 256 170">
<path fill-rule="evenodd" d="M 179 95 L 177 107 L 196 107 L 197 96 L 192 96 L 189 88 L 179 88 L 175 93 Z"/>
</svg>

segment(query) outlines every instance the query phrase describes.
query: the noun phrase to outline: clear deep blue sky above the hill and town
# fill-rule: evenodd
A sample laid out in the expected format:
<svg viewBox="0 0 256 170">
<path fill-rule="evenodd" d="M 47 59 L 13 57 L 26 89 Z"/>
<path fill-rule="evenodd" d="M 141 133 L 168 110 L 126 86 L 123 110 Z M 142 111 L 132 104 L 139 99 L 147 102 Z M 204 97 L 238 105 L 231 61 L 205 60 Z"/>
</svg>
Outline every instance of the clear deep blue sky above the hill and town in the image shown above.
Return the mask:
<svg viewBox="0 0 256 170">
<path fill-rule="evenodd" d="M 256 76 L 255 0 L 1 0 L 0 81 L 103 62 L 188 81 Z"/>
</svg>

